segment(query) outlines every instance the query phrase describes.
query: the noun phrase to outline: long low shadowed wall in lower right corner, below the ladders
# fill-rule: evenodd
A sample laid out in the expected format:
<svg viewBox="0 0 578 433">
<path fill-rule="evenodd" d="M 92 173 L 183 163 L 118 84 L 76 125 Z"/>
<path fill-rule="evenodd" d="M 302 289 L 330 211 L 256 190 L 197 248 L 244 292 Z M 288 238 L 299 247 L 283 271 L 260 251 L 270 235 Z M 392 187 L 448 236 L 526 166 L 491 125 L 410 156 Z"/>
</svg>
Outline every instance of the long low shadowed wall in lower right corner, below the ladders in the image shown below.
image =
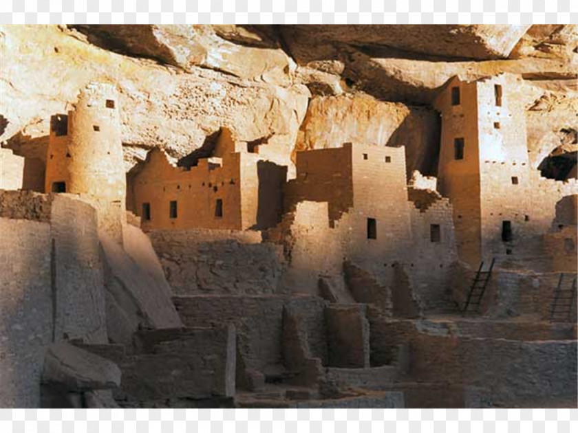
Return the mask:
<svg viewBox="0 0 578 433">
<path fill-rule="evenodd" d="M 369 318 L 372 351 L 409 344 L 413 380 L 479 386 L 503 405 L 577 398 L 576 388 L 568 387 L 577 380 L 575 340 L 465 337 L 451 335 L 445 324 Z"/>
</svg>

